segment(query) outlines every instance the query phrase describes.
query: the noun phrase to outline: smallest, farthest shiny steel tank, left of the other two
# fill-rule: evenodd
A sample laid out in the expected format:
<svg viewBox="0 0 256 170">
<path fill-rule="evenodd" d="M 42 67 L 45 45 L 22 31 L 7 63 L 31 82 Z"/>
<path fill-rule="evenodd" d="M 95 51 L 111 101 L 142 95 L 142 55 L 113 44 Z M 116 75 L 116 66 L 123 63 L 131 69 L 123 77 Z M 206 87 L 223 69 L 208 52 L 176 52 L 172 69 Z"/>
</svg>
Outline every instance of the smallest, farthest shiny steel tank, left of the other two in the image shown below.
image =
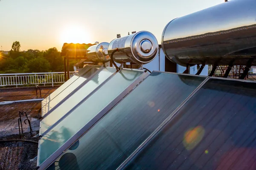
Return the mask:
<svg viewBox="0 0 256 170">
<path fill-rule="evenodd" d="M 90 46 L 86 51 L 86 57 L 92 62 L 108 62 L 110 57 L 108 55 L 108 42 L 101 42 Z"/>
</svg>

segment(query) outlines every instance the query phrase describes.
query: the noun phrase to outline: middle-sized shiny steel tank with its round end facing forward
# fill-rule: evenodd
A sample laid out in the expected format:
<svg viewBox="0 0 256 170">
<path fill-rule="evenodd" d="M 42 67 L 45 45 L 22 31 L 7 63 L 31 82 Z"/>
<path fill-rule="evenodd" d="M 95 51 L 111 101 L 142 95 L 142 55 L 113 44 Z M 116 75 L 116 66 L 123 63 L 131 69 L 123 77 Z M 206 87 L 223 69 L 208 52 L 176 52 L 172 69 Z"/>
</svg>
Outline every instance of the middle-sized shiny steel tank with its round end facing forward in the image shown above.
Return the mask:
<svg viewBox="0 0 256 170">
<path fill-rule="evenodd" d="M 158 53 L 156 37 L 148 31 L 140 31 L 122 38 L 112 40 L 108 45 L 108 54 L 118 63 L 135 62 L 138 65 L 151 62 Z"/>
</svg>

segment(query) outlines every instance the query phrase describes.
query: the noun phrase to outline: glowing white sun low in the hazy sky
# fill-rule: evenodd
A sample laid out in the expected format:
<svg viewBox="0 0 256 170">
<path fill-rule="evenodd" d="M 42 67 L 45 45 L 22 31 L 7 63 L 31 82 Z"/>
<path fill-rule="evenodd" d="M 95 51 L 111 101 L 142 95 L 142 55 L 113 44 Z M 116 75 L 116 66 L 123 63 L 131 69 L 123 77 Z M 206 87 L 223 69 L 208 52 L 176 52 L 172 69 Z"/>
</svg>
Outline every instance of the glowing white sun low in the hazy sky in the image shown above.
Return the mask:
<svg viewBox="0 0 256 170">
<path fill-rule="evenodd" d="M 87 30 L 79 26 L 69 26 L 63 29 L 60 35 L 61 43 L 88 43 L 90 35 Z"/>
</svg>

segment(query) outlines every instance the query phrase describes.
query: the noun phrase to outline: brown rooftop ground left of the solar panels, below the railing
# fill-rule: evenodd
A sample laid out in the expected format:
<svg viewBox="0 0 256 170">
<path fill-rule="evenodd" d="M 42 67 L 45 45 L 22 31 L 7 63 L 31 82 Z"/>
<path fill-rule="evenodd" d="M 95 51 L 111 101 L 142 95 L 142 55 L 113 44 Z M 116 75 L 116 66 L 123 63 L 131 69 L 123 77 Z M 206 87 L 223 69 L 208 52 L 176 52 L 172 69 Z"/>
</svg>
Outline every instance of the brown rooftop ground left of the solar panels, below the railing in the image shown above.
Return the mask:
<svg viewBox="0 0 256 170">
<path fill-rule="evenodd" d="M 56 88 L 58 87 L 43 87 L 41 89 L 42 98 L 47 97 Z M 24 100 L 36 98 L 35 88 L 0 89 L 0 99 Z M 39 95 L 38 98 L 40 98 Z M 0 105 L 0 170 L 35 170 L 36 160 L 30 161 L 30 159 L 34 159 L 37 156 L 37 142 L 39 138 L 34 136 L 39 133 L 40 108 L 41 102 Z M 19 111 L 25 111 L 27 113 L 33 130 L 31 137 L 29 125 L 28 123 L 24 123 L 26 116 L 25 114 L 21 116 L 23 125 L 21 139 L 34 142 L 6 141 L 20 139 L 18 127 Z"/>
</svg>

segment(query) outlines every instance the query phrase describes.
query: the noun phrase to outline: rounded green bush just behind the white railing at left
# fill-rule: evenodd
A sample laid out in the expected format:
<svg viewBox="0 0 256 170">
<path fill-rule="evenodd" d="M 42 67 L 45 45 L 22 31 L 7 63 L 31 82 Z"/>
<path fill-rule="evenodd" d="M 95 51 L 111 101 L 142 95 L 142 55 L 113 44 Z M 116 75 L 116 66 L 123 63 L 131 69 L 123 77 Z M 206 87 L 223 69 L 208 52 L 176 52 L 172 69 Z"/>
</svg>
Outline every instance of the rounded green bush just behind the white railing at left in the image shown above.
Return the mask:
<svg viewBox="0 0 256 170">
<path fill-rule="evenodd" d="M 44 57 L 31 59 L 27 62 L 28 71 L 31 73 L 49 72 L 51 65 Z"/>
</svg>

